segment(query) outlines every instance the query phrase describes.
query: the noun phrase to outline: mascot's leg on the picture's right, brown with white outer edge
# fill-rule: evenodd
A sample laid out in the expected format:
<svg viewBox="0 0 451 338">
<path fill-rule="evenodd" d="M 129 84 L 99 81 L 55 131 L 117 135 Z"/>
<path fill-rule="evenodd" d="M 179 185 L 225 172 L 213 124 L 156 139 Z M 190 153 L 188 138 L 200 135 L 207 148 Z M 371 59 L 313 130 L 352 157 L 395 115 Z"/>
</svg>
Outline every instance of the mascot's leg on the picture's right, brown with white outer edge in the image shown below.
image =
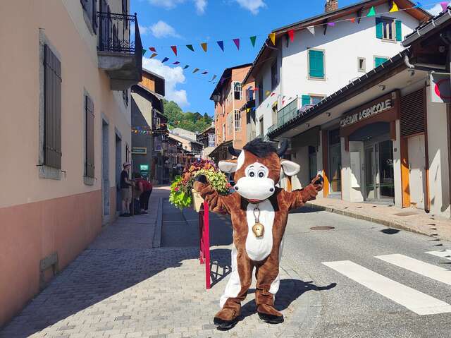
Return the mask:
<svg viewBox="0 0 451 338">
<path fill-rule="evenodd" d="M 255 277 L 257 278 L 257 287 L 255 291 L 255 303 L 257 304 L 257 313 L 261 320 L 271 324 L 283 322 L 283 314 L 274 308 L 274 301 L 280 286 L 279 262 L 282 257 L 283 243 L 280 244 L 278 257 L 271 254 L 266 261 L 257 266 Z"/>
</svg>

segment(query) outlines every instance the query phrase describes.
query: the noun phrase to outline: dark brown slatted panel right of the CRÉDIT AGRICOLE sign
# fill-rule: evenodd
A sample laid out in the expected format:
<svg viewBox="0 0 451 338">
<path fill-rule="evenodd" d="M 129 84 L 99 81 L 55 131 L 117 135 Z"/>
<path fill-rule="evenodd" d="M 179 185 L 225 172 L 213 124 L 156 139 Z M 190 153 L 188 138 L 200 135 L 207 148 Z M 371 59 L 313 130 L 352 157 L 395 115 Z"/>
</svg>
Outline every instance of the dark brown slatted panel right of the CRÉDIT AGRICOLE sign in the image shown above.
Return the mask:
<svg viewBox="0 0 451 338">
<path fill-rule="evenodd" d="M 401 136 L 424 133 L 425 103 L 424 88 L 401 97 Z"/>
</svg>

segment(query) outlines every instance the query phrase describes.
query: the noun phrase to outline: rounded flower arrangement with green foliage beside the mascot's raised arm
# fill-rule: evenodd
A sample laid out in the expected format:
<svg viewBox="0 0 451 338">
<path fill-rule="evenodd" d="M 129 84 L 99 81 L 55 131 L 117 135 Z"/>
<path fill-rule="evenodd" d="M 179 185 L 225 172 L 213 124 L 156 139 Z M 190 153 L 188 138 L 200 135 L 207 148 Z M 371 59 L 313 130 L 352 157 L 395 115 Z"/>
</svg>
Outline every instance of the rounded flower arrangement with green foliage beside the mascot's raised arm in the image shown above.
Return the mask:
<svg viewBox="0 0 451 338">
<path fill-rule="evenodd" d="M 227 195 L 230 184 L 224 175 L 216 167 L 214 162 L 202 159 L 199 162 L 188 164 L 181 176 L 176 176 L 171 184 L 171 193 L 169 194 L 169 202 L 180 209 L 190 207 L 194 204 L 194 208 L 199 212 L 202 205 L 202 197 L 195 191 L 192 186 L 196 176 L 204 175 L 207 181 L 221 195 Z"/>
</svg>

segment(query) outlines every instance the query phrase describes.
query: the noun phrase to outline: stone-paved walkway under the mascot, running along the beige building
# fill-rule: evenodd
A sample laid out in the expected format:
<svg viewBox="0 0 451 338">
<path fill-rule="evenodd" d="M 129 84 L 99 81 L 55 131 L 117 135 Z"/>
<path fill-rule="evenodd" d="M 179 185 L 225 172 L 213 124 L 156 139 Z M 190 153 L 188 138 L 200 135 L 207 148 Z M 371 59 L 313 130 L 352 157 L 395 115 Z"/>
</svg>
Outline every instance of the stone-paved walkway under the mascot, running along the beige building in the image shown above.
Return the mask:
<svg viewBox="0 0 451 338">
<path fill-rule="evenodd" d="M 149 215 L 120 218 L 106 227 L 47 289 L 0 330 L 0 337 L 302 336 L 302 323 L 319 316 L 318 307 L 309 308 L 318 302 L 317 288 L 302 282 L 289 260 L 282 261 L 276 297 L 276 307 L 285 315 L 282 325 L 259 320 L 252 284 L 242 320 L 233 330 L 216 330 L 213 317 L 230 273 L 230 222 L 227 217 L 212 215 L 213 287 L 206 290 L 204 266 L 198 260 L 195 213 L 185 210 L 181 214 L 163 201 L 163 246 L 152 245 L 159 232 L 155 227 L 159 200 L 167 196 L 167 188 L 155 188 Z M 185 223 L 180 223 L 182 219 Z"/>
</svg>

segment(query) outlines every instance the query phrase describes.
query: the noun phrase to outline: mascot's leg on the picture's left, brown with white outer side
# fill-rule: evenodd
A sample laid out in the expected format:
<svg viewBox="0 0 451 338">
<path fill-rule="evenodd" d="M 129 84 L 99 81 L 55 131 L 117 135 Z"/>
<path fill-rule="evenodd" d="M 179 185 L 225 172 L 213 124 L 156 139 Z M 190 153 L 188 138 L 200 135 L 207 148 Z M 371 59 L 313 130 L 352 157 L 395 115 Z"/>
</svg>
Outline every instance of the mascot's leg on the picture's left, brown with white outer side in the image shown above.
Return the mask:
<svg viewBox="0 0 451 338">
<path fill-rule="evenodd" d="M 244 251 L 238 253 L 233 246 L 232 272 L 219 301 L 222 309 L 214 316 L 214 324 L 218 327 L 228 329 L 238 321 L 241 302 L 245 300 L 247 290 L 251 286 L 252 269 L 253 265 L 247 254 Z"/>
</svg>

